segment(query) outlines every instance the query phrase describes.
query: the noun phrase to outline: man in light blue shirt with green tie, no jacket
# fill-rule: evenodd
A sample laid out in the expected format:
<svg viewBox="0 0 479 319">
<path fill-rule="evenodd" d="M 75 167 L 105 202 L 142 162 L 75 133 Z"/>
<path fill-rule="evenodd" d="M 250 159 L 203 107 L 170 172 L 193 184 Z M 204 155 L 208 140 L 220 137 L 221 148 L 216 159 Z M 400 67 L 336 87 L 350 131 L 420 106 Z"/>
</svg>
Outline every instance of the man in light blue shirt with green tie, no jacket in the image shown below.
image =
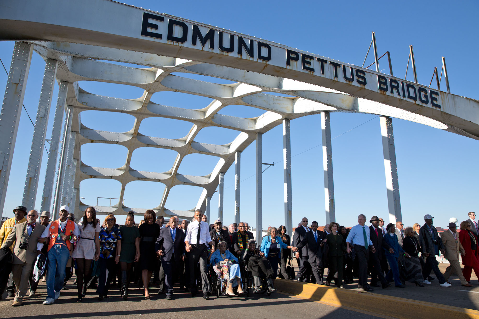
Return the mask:
<svg viewBox="0 0 479 319">
<path fill-rule="evenodd" d="M 373 246 L 373 242 L 369 237 L 369 227 L 365 226 L 366 216 L 363 214 L 358 216 L 358 225 L 351 228 L 348 238 L 346 239 L 346 250 L 351 253 L 351 244 L 354 245 L 356 251 L 356 258 L 359 262 L 358 273 L 358 288 L 363 288 L 365 291 L 374 291 L 373 288 L 367 283 L 367 261 L 369 247 L 372 252 L 376 252 Z"/>
</svg>

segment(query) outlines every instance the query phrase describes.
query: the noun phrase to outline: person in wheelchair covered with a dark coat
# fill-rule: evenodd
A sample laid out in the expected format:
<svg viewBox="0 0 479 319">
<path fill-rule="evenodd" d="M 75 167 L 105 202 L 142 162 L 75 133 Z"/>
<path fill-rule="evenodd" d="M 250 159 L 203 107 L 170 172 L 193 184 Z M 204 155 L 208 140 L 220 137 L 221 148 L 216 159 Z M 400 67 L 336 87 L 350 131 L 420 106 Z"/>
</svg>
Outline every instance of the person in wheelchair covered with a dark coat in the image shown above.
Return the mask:
<svg viewBox="0 0 479 319">
<path fill-rule="evenodd" d="M 256 249 L 256 241 L 254 239 L 248 240 L 248 249 L 243 251 L 241 255 L 241 261 L 247 265 L 245 271 L 250 271 L 253 275 L 254 291 L 255 294 L 262 293 L 261 289 L 261 276 L 266 277 L 266 283 L 268 285 L 269 292 L 275 292 L 273 287 L 273 268 L 271 268 L 270 262 L 264 258 L 264 253 Z"/>
</svg>

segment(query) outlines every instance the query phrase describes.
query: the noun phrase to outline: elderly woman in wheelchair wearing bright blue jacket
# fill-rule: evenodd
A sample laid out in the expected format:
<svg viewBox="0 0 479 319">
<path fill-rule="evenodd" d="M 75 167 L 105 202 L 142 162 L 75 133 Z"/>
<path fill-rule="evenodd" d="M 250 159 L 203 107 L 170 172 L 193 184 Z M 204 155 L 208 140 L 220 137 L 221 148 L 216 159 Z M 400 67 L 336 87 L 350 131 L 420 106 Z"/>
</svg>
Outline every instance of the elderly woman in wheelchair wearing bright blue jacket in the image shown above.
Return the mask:
<svg viewBox="0 0 479 319">
<path fill-rule="evenodd" d="M 243 295 L 241 273 L 239 271 L 238 258 L 226 249 L 226 241 L 218 243 L 218 249 L 210 256 L 210 265 L 217 273 L 221 281 L 221 294 L 236 296 L 233 287 L 238 286 L 238 294 Z"/>
</svg>

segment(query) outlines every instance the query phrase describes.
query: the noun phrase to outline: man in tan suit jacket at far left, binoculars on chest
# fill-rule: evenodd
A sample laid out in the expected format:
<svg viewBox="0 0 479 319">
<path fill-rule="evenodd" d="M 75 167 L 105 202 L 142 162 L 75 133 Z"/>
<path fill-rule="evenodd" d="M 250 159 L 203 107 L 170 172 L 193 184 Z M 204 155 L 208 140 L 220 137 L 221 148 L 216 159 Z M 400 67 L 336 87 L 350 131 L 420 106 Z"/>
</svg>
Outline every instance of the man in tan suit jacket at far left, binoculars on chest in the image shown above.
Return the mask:
<svg viewBox="0 0 479 319">
<path fill-rule="evenodd" d="M 27 222 L 15 225 L 7 239 L 4 240 L 3 247 L 13 248 L 12 270 L 13 282 L 17 287 L 17 293 L 13 299 L 12 306 L 21 306 L 23 297 L 27 293 L 28 278 L 32 272 L 32 264 L 36 260 L 38 238 L 41 237 L 45 226 L 37 223 L 38 212 L 31 210 L 27 215 Z"/>
</svg>

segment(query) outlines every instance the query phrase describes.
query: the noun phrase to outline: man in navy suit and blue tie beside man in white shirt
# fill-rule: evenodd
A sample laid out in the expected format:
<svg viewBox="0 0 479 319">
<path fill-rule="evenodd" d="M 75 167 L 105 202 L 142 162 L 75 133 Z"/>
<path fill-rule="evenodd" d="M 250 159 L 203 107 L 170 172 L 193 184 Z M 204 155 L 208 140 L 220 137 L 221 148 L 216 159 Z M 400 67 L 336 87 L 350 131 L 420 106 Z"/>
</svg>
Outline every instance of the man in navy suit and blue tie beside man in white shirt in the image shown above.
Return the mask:
<svg viewBox="0 0 479 319">
<path fill-rule="evenodd" d="M 160 256 L 161 265 L 165 271 L 166 299 L 173 299 L 173 269 L 184 261 L 185 243 L 182 229 L 177 228 L 175 216 L 170 218 L 170 226 L 161 228 L 160 236 L 156 240 L 155 249 Z"/>
</svg>

